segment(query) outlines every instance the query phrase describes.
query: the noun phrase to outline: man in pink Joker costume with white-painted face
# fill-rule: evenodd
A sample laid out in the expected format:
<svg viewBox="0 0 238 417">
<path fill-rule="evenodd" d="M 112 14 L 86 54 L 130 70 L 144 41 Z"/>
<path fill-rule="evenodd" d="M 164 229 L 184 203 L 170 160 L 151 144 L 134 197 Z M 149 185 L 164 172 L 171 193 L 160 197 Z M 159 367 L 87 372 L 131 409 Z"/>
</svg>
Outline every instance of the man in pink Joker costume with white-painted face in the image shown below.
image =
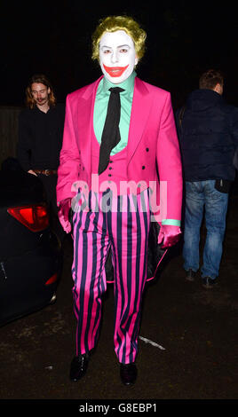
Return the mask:
<svg viewBox="0 0 238 417">
<path fill-rule="evenodd" d="M 158 244 L 171 247 L 180 235 L 182 172 L 171 95 L 135 73 L 145 39 L 144 30 L 129 17 L 101 20 L 92 36 L 92 58 L 99 60 L 103 75 L 67 96 L 57 201 L 67 232 L 68 211 L 74 209 L 77 327 L 72 381 L 85 374 L 98 342 L 109 250 L 114 266 L 115 354 L 122 382 L 136 381 L 152 212 L 161 226 Z M 161 184 L 166 185 L 163 197 Z M 156 194 L 152 205 L 151 188 Z"/>
</svg>

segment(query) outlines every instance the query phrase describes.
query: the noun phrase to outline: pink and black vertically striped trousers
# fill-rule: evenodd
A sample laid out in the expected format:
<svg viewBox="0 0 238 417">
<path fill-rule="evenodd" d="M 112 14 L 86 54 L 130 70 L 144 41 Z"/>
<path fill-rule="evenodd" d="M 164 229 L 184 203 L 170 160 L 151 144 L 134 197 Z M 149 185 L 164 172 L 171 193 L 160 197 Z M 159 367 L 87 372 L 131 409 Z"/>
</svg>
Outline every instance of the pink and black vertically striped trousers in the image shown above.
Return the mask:
<svg viewBox="0 0 238 417">
<path fill-rule="evenodd" d="M 115 198 L 108 192 L 94 197 L 97 202 L 104 198 L 102 207 L 91 209 L 90 193 L 90 209 L 78 211 L 73 219 L 76 355 L 89 352 L 99 339 L 101 297 L 107 289 L 105 263 L 111 248 L 115 354 L 119 362 L 128 364 L 135 361 L 138 352 L 141 303 L 147 280 L 148 192 Z"/>
</svg>

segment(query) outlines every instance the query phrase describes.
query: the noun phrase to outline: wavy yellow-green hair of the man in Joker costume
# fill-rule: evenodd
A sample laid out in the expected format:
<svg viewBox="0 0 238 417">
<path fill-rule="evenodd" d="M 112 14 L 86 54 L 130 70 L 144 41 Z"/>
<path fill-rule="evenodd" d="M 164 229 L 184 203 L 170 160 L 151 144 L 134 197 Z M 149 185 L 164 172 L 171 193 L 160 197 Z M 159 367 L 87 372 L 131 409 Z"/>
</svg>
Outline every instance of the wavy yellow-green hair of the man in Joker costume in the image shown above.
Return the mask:
<svg viewBox="0 0 238 417">
<path fill-rule="evenodd" d="M 135 51 L 138 59 L 141 59 L 145 53 L 145 41 L 147 34 L 145 30 L 139 27 L 139 24 L 129 16 L 108 16 L 99 20 L 99 26 L 95 29 L 92 38 L 92 59 L 99 60 L 99 42 L 102 35 L 106 32 L 115 32 L 124 30 L 127 35 L 131 36 L 135 44 Z"/>
</svg>

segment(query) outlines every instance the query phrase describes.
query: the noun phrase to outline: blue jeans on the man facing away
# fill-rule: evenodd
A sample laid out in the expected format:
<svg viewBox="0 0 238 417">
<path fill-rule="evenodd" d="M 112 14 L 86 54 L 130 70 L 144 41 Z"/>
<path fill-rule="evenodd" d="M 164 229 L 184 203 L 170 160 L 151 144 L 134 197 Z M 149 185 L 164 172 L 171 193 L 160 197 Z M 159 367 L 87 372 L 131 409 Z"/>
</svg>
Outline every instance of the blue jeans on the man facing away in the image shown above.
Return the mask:
<svg viewBox="0 0 238 417">
<path fill-rule="evenodd" d="M 205 215 L 207 236 L 203 249 L 202 278 L 218 277 L 226 231 L 228 193 L 215 188 L 215 180 L 186 182 L 186 211 L 183 257 L 184 269 L 199 269 L 200 228 Z"/>
</svg>

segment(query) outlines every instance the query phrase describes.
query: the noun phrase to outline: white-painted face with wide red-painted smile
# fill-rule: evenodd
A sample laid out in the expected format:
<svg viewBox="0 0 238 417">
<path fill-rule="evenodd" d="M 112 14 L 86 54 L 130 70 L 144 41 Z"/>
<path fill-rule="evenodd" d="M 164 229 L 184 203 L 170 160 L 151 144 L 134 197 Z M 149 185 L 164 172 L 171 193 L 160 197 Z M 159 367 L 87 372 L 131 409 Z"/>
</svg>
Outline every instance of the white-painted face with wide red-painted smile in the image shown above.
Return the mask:
<svg viewBox="0 0 238 417">
<path fill-rule="evenodd" d="M 114 84 L 123 83 L 138 63 L 131 36 L 123 30 L 102 35 L 99 42 L 99 61 L 108 81 Z"/>
</svg>

